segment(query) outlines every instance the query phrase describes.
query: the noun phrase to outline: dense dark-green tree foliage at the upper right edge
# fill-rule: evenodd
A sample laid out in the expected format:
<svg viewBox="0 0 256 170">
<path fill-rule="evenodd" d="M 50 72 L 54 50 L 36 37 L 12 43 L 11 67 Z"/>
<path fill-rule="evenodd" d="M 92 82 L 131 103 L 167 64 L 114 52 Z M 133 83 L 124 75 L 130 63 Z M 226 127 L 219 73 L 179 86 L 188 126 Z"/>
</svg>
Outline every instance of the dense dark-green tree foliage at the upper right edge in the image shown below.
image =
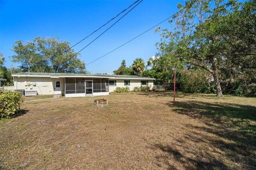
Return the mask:
<svg viewBox="0 0 256 170">
<path fill-rule="evenodd" d="M 256 68 L 256 0 L 249 0 L 223 16 L 216 34 L 226 42 L 226 56 L 232 63 Z"/>
</svg>

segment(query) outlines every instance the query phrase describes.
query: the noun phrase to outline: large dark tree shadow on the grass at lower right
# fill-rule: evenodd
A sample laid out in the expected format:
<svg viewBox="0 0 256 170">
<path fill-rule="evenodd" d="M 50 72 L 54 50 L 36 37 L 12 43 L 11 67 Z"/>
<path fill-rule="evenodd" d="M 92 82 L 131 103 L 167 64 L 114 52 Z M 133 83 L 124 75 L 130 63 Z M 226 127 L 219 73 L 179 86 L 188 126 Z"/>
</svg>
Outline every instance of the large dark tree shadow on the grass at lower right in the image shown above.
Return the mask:
<svg viewBox="0 0 256 170">
<path fill-rule="evenodd" d="M 167 104 L 170 105 L 170 103 Z M 187 115 L 190 119 L 199 119 L 205 124 L 205 126 L 185 124 L 185 137 L 183 139 L 176 140 L 170 146 L 157 145 L 162 151 L 167 152 L 169 157 L 182 163 L 183 168 L 256 168 L 256 107 L 198 101 L 176 102 L 176 106 L 174 108 L 176 113 Z M 212 134 L 217 137 L 212 136 Z M 199 146 L 188 147 L 191 142 Z M 199 153 L 197 159 L 187 156 L 194 154 L 195 150 L 200 150 L 201 146 L 211 147 L 208 148 L 208 152 Z M 183 152 L 181 153 L 176 147 L 182 148 Z M 220 152 L 223 160 L 216 158 L 216 152 Z M 166 162 L 168 156 L 162 157 L 162 160 Z M 204 158 L 207 161 L 200 161 Z M 227 160 L 232 164 L 227 165 L 225 162 Z M 170 163 L 168 165 L 170 169 L 175 168 Z"/>
</svg>

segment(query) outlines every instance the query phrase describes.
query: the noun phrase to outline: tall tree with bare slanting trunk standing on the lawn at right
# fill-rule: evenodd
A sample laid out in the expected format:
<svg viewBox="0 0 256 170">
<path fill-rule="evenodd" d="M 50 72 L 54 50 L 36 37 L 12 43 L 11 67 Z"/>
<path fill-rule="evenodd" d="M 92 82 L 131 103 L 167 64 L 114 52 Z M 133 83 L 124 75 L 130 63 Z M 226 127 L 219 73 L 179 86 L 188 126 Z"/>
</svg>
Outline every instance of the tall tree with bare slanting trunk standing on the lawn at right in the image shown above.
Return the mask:
<svg viewBox="0 0 256 170">
<path fill-rule="evenodd" d="M 223 16 L 230 16 L 239 7 L 235 0 L 188 0 L 173 17 L 174 30 L 163 29 L 161 43 L 162 55 L 169 54 L 175 59 L 195 65 L 210 72 L 214 78 L 216 95 L 222 96 L 220 86 L 220 67 L 228 62 L 226 41 L 216 30 Z"/>
</svg>

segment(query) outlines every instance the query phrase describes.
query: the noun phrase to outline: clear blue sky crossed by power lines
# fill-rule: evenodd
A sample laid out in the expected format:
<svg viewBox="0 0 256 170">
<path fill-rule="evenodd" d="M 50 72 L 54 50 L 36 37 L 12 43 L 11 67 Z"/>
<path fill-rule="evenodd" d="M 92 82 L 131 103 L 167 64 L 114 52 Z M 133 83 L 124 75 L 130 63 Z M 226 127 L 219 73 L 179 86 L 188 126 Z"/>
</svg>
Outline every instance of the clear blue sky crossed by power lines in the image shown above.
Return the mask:
<svg viewBox="0 0 256 170">
<path fill-rule="evenodd" d="M 60 40 L 79 42 L 94 30 L 105 24 L 119 12 L 130 6 L 135 0 L 104 1 L 0 1 L 0 53 L 6 58 L 5 66 L 18 67 L 9 56 L 14 55 L 10 49 L 14 41 L 24 42 L 40 37 L 57 36 Z M 162 20 L 178 11 L 180 0 L 144 0 L 116 25 L 104 33 L 95 42 L 80 52 L 85 63 L 112 51 L 126 43 Z M 116 20 L 115 20 L 116 21 Z M 90 36 L 74 48 L 80 51 L 109 25 Z M 168 28 L 168 21 L 159 25 Z M 155 43 L 160 41 L 160 34 L 154 29 L 124 45 L 105 57 L 86 65 L 91 73 L 112 73 L 118 69 L 123 59 L 126 65 L 132 65 L 135 58 L 141 57 L 146 62 L 157 52 Z"/>
</svg>

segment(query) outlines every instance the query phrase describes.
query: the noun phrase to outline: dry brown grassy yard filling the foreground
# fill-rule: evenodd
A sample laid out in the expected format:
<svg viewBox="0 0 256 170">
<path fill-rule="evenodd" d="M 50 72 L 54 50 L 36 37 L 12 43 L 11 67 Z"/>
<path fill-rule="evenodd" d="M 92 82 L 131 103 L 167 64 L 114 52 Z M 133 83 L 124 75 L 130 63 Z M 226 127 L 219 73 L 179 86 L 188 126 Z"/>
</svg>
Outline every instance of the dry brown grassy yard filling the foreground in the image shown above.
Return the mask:
<svg viewBox="0 0 256 170">
<path fill-rule="evenodd" d="M 111 93 L 22 103 L 0 169 L 256 169 L 256 98 Z"/>
</svg>

